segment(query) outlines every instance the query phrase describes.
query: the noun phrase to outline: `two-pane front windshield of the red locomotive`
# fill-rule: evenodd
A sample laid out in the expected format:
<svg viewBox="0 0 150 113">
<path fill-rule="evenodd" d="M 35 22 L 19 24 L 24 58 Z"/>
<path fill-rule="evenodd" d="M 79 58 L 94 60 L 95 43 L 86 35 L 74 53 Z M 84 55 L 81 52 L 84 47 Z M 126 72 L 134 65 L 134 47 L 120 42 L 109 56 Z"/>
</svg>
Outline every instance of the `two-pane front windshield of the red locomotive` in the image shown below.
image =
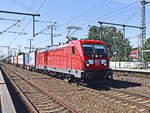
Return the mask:
<svg viewBox="0 0 150 113">
<path fill-rule="evenodd" d="M 104 45 L 99 44 L 83 44 L 84 55 L 87 57 L 104 57 L 106 50 Z"/>
</svg>

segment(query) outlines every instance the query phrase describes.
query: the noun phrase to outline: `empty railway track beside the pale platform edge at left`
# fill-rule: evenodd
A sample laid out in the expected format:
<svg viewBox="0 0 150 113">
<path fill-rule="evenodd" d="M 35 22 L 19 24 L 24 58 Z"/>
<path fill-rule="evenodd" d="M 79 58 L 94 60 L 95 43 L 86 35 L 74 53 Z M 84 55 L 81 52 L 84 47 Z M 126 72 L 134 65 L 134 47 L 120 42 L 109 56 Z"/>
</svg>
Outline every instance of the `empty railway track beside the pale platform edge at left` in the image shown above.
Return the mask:
<svg viewBox="0 0 150 113">
<path fill-rule="evenodd" d="M 26 104 L 31 112 L 34 113 L 79 113 L 75 108 L 72 108 L 51 95 L 45 89 L 41 89 L 38 86 L 31 83 L 29 80 L 22 77 L 22 75 L 16 71 L 13 71 L 9 67 L 6 67 L 8 78 L 13 85 L 23 95 Z M 19 86 L 19 87 L 18 87 Z"/>
</svg>

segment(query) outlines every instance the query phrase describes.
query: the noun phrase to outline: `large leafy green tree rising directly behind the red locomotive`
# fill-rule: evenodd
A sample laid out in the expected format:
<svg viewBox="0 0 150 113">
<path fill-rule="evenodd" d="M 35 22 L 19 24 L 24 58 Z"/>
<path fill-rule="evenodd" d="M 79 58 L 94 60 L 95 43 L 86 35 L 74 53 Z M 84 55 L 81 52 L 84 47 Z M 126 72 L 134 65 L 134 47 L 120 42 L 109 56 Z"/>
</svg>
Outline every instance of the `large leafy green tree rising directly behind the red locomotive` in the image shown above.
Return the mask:
<svg viewBox="0 0 150 113">
<path fill-rule="evenodd" d="M 113 26 L 91 26 L 88 32 L 89 40 L 101 40 L 106 43 L 110 56 L 117 53 L 119 61 L 128 57 L 132 47 L 128 39 L 124 39 L 123 33 Z M 127 60 L 127 59 L 126 59 Z"/>
</svg>

